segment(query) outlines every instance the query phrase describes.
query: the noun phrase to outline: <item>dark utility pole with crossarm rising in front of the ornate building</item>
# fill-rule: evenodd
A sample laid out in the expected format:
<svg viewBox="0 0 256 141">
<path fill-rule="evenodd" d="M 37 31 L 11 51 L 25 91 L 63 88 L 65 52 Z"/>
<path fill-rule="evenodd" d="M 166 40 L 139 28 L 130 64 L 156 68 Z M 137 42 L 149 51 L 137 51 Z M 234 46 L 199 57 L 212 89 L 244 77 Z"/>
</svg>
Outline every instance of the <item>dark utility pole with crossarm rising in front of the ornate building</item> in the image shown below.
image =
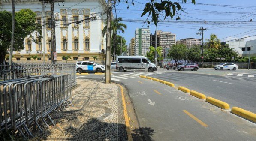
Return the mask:
<svg viewBox="0 0 256 141">
<path fill-rule="evenodd" d="M 64 0 L 39 0 L 42 3 L 50 3 L 51 5 L 51 63 L 56 63 L 54 60 L 54 52 L 56 53 L 56 36 L 55 36 L 55 15 L 54 15 L 54 2 L 64 2 Z"/>
</svg>

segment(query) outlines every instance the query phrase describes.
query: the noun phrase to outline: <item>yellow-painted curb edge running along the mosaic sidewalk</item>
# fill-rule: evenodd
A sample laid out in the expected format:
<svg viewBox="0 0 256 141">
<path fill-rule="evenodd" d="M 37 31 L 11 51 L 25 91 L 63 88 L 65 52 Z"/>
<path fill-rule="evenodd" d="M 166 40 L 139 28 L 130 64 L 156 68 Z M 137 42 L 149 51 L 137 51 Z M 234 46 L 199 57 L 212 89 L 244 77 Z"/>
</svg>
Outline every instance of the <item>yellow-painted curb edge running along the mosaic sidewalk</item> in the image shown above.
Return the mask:
<svg viewBox="0 0 256 141">
<path fill-rule="evenodd" d="M 117 84 L 117 85 L 120 87 L 121 94 L 122 94 L 123 114 L 124 114 L 124 120 L 125 120 L 125 125 L 126 125 L 126 132 L 127 132 L 128 141 L 133 141 L 133 137 L 132 137 L 131 129 L 130 129 L 129 118 L 128 118 L 127 109 L 126 109 L 126 104 L 125 104 L 125 99 L 124 99 L 124 94 L 123 94 L 123 87 L 119 84 Z"/>
</svg>

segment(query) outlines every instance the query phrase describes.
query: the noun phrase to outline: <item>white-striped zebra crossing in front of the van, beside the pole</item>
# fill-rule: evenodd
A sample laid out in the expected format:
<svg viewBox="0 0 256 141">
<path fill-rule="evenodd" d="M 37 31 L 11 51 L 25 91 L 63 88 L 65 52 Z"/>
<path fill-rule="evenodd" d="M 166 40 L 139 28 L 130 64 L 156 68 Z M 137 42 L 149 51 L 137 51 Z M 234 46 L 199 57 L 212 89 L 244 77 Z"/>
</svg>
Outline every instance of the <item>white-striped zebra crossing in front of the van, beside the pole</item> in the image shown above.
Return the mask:
<svg viewBox="0 0 256 141">
<path fill-rule="evenodd" d="M 136 72 L 136 73 L 126 73 L 123 75 L 111 75 L 111 80 L 114 81 L 120 81 L 120 80 L 126 80 L 129 78 L 137 78 L 139 75 L 145 75 L 145 76 L 151 76 L 151 75 L 160 75 L 160 74 L 165 74 L 165 72 Z"/>
</svg>

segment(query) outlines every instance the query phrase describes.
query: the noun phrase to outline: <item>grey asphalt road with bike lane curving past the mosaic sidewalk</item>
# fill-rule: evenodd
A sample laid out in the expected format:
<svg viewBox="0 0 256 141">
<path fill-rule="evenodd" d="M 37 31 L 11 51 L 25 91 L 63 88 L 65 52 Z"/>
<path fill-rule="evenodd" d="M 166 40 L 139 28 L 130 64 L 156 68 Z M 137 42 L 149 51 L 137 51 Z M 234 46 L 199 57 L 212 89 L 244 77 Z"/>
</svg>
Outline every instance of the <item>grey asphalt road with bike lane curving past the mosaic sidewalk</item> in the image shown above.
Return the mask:
<svg viewBox="0 0 256 141">
<path fill-rule="evenodd" d="M 217 86 L 226 87 L 226 85 L 223 85 L 221 82 L 217 83 L 217 81 L 232 80 L 226 78 L 226 76 L 193 75 L 175 72 L 155 74 L 136 72 L 136 75 L 138 76 L 139 73 L 141 75 L 148 74 L 148 76 L 154 78 L 164 78 L 168 76 L 168 79 L 172 78 L 170 80 L 172 80 L 176 86 L 179 83 L 185 86 L 186 83 L 183 81 L 191 81 L 190 83 L 199 85 L 197 82 L 198 79 L 201 81 L 204 80 L 205 83 L 207 83 L 204 87 L 196 87 L 200 90 L 209 89 L 208 87 L 211 87 L 210 90 L 217 89 L 214 89 L 214 87 Z M 130 76 L 130 78 L 125 76 Z M 78 77 L 103 80 L 104 75 L 79 75 Z M 182 77 L 183 79 L 179 80 L 177 78 L 175 79 L 175 77 L 179 77 L 179 79 Z M 256 140 L 255 123 L 251 123 L 241 117 L 237 117 L 229 111 L 220 110 L 220 108 L 217 108 L 201 99 L 190 96 L 187 93 L 176 90 L 174 87 L 168 87 L 164 84 L 144 78 L 133 77 L 132 72 L 125 72 L 124 75 L 122 75 L 122 73 L 113 73 L 112 78 L 115 78 L 115 82 L 122 83 L 128 89 L 129 96 L 133 101 L 133 106 L 138 117 L 140 128 L 142 129 L 142 132 L 145 135 L 145 140 L 147 141 Z M 180 82 L 177 83 L 178 81 Z M 237 83 L 243 84 L 244 80 L 242 81 L 243 82 Z M 248 82 L 252 83 L 250 81 Z M 190 83 L 187 83 L 187 85 Z M 235 84 L 235 82 L 230 83 Z M 232 87 L 232 84 L 229 84 L 229 86 Z M 247 82 L 243 85 L 246 84 Z M 237 85 L 235 86 L 237 87 Z M 199 89 L 198 91 L 203 93 Z M 221 96 L 222 99 L 226 95 L 223 94 L 223 96 Z M 217 98 L 216 96 L 218 95 L 214 95 L 212 97 Z M 248 107 L 250 107 L 250 105 Z"/>
</svg>

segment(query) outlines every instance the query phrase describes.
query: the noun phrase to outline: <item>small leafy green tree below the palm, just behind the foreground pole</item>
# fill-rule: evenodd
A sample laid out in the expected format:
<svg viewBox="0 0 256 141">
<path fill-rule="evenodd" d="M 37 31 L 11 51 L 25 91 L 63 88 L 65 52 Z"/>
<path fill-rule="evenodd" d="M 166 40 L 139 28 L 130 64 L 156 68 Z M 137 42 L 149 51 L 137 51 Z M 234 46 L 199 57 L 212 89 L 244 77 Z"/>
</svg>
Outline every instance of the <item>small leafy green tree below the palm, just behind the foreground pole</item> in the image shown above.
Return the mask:
<svg viewBox="0 0 256 141">
<path fill-rule="evenodd" d="M 127 45 L 126 45 L 126 40 L 124 39 L 124 37 L 122 36 L 119 36 L 117 35 L 116 36 L 117 39 L 116 39 L 116 50 L 115 50 L 115 54 L 116 55 L 121 55 L 120 52 L 121 52 L 121 38 L 122 38 L 122 52 L 126 52 L 127 51 Z M 111 40 L 111 47 L 114 48 L 114 40 L 112 38 Z M 114 50 L 111 50 L 111 56 L 114 56 Z"/>
</svg>

